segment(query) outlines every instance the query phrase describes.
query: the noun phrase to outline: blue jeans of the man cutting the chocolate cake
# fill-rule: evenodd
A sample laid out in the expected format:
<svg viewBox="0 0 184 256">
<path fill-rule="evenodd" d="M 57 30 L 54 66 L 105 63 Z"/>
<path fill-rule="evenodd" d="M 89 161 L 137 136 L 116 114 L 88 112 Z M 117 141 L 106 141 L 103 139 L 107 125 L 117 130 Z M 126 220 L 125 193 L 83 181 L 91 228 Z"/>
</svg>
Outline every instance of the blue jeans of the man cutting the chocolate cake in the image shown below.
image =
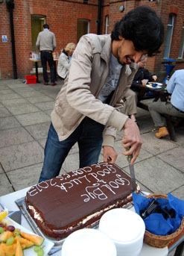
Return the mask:
<svg viewBox="0 0 184 256">
<path fill-rule="evenodd" d="M 45 144 L 45 159 L 39 182 L 54 178 L 60 174 L 63 162 L 75 143 L 79 147 L 79 168 L 98 163 L 103 131 L 104 125 L 85 117 L 66 140 L 59 141 L 57 132 L 51 124 Z"/>
</svg>

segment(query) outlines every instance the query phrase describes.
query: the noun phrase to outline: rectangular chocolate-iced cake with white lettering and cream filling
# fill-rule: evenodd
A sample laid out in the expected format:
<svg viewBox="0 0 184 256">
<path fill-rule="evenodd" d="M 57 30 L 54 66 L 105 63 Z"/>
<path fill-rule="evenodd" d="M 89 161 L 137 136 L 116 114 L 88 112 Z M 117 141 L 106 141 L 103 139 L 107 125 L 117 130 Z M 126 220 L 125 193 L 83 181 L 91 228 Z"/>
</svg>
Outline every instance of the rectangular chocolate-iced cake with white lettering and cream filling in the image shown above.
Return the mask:
<svg viewBox="0 0 184 256">
<path fill-rule="evenodd" d="M 31 187 L 28 213 L 55 240 L 98 223 L 101 216 L 132 201 L 130 177 L 115 164 L 96 163 Z"/>
</svg>

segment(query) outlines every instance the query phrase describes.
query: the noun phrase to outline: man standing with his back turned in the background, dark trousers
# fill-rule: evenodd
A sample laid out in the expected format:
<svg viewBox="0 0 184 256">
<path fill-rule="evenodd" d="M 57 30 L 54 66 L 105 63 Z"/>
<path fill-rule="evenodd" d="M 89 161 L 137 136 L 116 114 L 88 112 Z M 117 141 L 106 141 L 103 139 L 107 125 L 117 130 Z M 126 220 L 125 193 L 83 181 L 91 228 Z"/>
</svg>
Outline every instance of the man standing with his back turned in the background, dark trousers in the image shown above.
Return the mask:
<svg viewBox="0 0 184 256">
<path fill-rule="evenodd" d="M 44 79 L 44 84 L 48 85 L 48 73 L 47 73 L 47 63 L 51 71 L 51 85 L 56 85 L 55 74 L 54 74 L 54 59 L 52 52 L 56 48 L 56 38 L 53 32 L 49 31 L 49 25 L 44 24 L 42 26 L 43 31 L 39 32 L 37 37 L 36 46 L 40 51 L 40 57 L 42 62 L 42 75 Z"/>
</svg>

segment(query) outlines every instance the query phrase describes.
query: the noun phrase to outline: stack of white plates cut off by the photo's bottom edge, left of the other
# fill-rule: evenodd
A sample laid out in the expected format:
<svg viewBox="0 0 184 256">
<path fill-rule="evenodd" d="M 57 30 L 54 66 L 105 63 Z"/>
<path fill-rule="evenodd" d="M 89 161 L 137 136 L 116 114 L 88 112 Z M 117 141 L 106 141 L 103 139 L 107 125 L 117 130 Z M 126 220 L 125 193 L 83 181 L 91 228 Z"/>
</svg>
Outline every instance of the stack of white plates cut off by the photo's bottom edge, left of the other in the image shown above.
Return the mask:
<svg viewBox="0 0 184 256">
<path fill-rule="evenodd" d="M 92 228 L 74 231 L 63 243 L 61 256 L 116 256 L 115 244 Z"/>
</svg>

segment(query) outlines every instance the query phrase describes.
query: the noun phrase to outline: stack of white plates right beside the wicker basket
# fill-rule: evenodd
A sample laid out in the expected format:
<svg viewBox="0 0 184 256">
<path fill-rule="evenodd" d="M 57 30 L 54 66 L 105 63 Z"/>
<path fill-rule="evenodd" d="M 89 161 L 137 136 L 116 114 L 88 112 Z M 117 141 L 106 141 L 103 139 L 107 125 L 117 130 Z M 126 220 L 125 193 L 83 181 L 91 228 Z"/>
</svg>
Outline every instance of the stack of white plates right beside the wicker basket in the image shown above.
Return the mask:
<svg viewBox="0 0 184 256">
<path fill-rule="evenodd" d="M 100 219 L 99 231 L 115 243 L 117 256 L 138 256 L 142 250 L 145 222 L 132 210 L 108 210 Z"/>
</svg>

